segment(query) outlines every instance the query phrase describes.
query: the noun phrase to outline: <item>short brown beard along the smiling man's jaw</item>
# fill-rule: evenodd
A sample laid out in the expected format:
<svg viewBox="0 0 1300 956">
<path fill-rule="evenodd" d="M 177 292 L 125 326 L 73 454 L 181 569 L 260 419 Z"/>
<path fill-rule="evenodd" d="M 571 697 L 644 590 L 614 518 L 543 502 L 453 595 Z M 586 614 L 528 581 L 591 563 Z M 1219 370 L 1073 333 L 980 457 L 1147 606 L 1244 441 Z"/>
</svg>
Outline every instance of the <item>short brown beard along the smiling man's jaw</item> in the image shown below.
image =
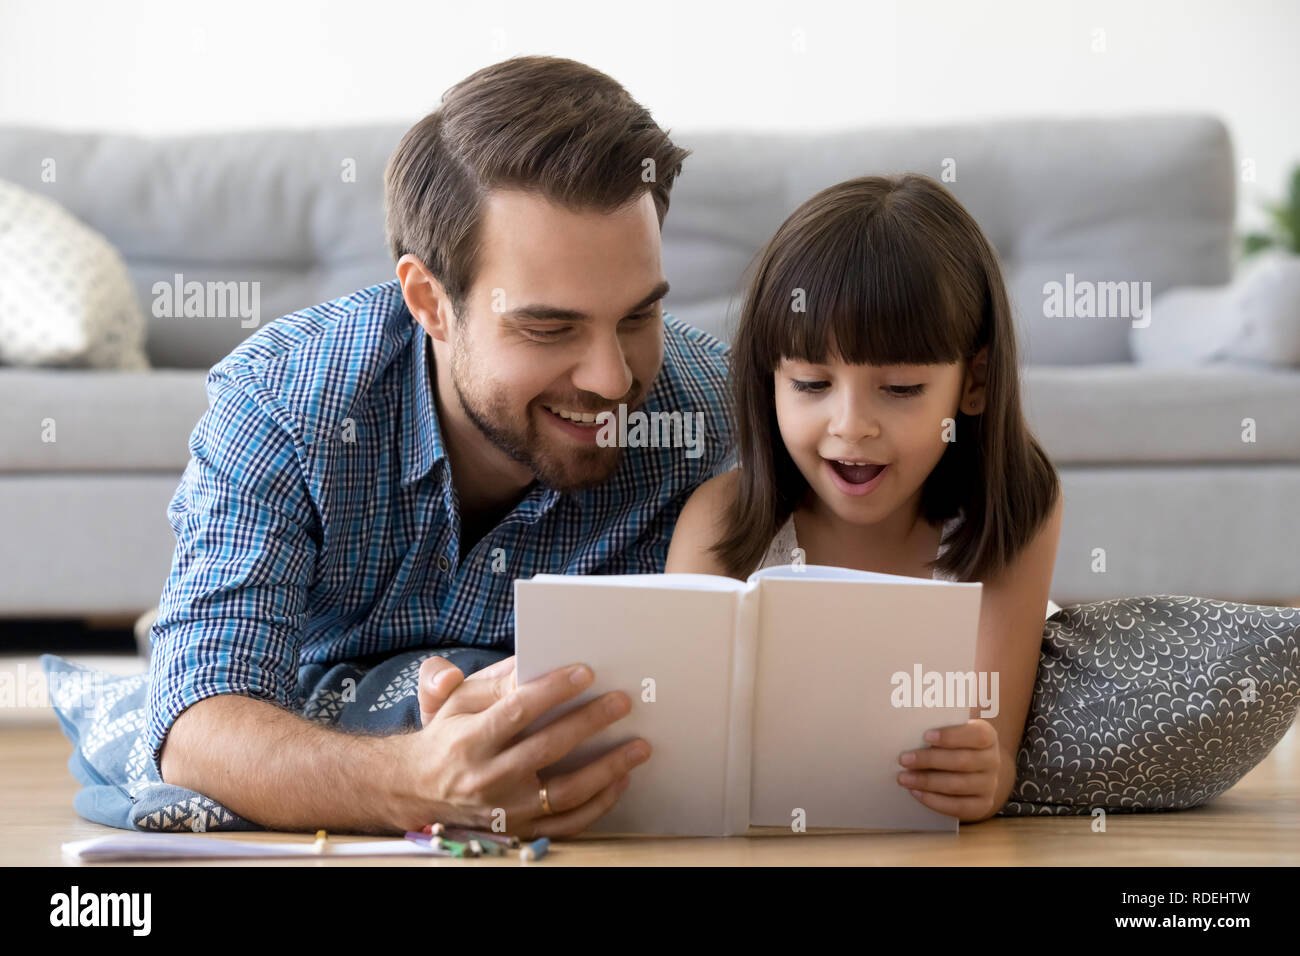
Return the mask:
<svg viewBox="0 0 1300 956">
<path fill-rule="evenodd" d="M 504 393 L 491 388 L 491 382 L 480 382 L 471 373 L 473 365 L 469 347 L 464 342 L 464 333 L 459 329 L 452 332 L 451 386 L 456 390 L 460 407 L 465 410 L 465 418 L 488 441 L 508 455 L 511 460 L 525 466 L 543 485 L 558 492 L 576 492 L 598 485 L 618 471 L 619 463 L 623 460 L 623 449 L 620 447 L 602 447 L 595 444 L 580 445 L 576 441 L 564 442 L 559 436 L 543 436 L 537 427 L 537 419 L 529 410 L 525 410 L 523 423 L 512 421 Z M 632 382 L 632 394 L 641 394 L 640 381 Z M 484 398 L 480 401 L 480 397 Z M 566 407 L 562 402 L 556 402 L 556 405 Z M 604 405 L 604 401 L 593 395 L 590 399 L 581 399 L 577 405 Z M 628 411 L 630 410 L 632 405 L 628 403 Z M 543 410 L 542 414 L 549 415 L 550 412 Z"/>
</svg>

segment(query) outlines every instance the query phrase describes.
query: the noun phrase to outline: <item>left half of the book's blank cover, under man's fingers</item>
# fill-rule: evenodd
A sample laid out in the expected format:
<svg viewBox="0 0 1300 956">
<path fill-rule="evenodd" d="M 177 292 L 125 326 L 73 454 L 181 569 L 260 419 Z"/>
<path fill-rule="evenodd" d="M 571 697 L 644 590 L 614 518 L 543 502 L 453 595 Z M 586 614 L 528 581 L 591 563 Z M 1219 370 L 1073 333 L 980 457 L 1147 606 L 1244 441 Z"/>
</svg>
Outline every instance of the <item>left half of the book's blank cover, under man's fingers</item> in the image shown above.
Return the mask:
<svg viewBox="0 0 1300 956">
<path fill-rule="evenodd" d="M 610 691 L 632 700 L 627 717 L 541 775 L 567 773 L 644 737 L 650 758 L 632 769 L 619 803 L 586 832 L 723 835 L 734 628 L 746 585 L 716 578 L 718 588 L 682 588 L 666 580 L 710 575 L 634 578 L 640 580 L 538 575 L 515 581 L 517 682 L 573 663 L 595 672 L 585 693 L 526 732 Z"/>
</svg>

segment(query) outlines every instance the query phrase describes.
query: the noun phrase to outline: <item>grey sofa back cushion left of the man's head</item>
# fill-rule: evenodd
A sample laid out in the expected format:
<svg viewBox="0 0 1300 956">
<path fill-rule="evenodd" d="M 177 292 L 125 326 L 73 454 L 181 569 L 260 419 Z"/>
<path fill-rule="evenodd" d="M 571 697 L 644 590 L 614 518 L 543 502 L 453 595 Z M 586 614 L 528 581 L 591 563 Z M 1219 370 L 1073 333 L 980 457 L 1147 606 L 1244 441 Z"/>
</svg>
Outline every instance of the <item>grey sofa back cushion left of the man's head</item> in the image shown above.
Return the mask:
<svg viewBox="0 0 1300 956">
<path fill-rule="evenodd" d="M 384 166 L 406 127 L 176 137 L 0 127 L 0 177 L 43 190 L 126 259 L 155 367 L 209 368 L 261 324 L 391 278 Z M 42 185 L 43 159 L 58 177 Z M 176 284 L 256 289 L 257 315 L 159 307 Z"/>
</svg>

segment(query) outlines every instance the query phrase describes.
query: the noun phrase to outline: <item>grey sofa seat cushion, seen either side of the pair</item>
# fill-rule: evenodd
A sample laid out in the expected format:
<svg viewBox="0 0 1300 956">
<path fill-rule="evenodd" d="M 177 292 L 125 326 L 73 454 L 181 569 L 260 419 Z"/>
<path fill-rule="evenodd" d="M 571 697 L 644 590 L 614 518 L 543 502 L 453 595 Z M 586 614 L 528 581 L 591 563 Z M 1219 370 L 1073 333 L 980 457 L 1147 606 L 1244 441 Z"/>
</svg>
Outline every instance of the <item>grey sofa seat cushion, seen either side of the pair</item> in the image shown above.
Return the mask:
<svg viewBox="0 0 1300 956">
<path fill-rule="evenodd" d="M 693 317 L 728 321 L 725 299 L 706 308 Z M 207 408 L 205 377 L 188 369 L 3 369 L 0 431 L 34 440 L 0 442 L 0 473 L 179 473 Z M 1026 416 L 1057 466 L 1300 462 L 1300 372 L 1035 365 L 1022 378 Z M 46 419 L 55 421 L 57 441 L 40 441 Z M 1254 420 L 1253 442 L 1242 441 L 1244 419 Z"/>
</svg>

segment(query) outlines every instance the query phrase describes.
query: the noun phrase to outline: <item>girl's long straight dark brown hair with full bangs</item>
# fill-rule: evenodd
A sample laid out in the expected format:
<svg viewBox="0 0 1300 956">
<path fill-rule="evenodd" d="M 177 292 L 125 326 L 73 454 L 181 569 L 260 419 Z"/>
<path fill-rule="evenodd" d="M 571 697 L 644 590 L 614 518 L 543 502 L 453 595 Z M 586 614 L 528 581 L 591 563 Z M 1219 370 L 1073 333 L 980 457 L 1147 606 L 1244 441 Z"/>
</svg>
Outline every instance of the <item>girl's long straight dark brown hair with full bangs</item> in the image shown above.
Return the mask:
<svg viewBox="0 0 1300 956">
<path fill-rule="evenodd" d="M 794 311 L 802 300 L 806 311 Z M 1020 411 L 1015 330 L 993 247 L 926 176 L 867 176 L 822 190 L 757 256 L 732 339 L 737 493 L 711 550 L 744 578 L 807 492 L 780 438 L 774 372 L 783 356 L 850 364 L 950 364 L 988 346 L 984 411 L 957 411 L 922 489 L 931 524 L 963 515 L 931 568 L 979 580 L 1005 568 L 1060 493 Z M 940 423 L 935 423 L 939 428 Z"/>
</svg>

